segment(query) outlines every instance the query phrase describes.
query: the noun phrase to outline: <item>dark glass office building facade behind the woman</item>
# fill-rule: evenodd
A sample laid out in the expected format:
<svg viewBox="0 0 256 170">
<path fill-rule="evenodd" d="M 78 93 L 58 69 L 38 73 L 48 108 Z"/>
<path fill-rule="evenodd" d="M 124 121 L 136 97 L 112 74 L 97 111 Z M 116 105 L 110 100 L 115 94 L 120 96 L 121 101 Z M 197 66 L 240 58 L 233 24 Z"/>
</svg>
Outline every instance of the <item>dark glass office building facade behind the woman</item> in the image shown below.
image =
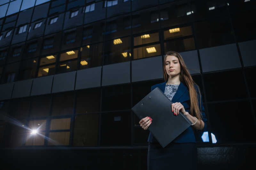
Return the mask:
<svg viewBox="0 0 256 170">
<path fill-rule="evenodd" d="M 149 131 L 140 128 L 131 108 L 164 79 L 133 81 L 138 72 L 132 64 L 163 60 L 170 50 L 186 57 L 188 67 L 197 61 L 192 78 L 216 143 L 255 143 L 256 61 L 250 53 L 256 33 L 255 17 L 248 17 L 255 10 L 255 1 L 231 0 L 1 1 L 1 88 L 34 82 L 25 97 L 13 97 L 13 90 L 12 97 L 0 100 L 0 110 L 19 122 L 4 125 L 10 133 L 3 133 L 6 141 L 0 144 L 147 145 Z M 106 76 L 112 73 L 123 79 Z M 48 79 L 40 86 L 42 93 L 32 95 L 40 85 L 36 80 Z M 233 107 L 239 105 L 244 109 Z M 243 113 L 248 122 L 240 121 Z M 23 126 L 37 128 L 41 136 L 31 136 Z M 208 138 L 196 137 L 200 144 L 215 143 Z"/>
</svg>

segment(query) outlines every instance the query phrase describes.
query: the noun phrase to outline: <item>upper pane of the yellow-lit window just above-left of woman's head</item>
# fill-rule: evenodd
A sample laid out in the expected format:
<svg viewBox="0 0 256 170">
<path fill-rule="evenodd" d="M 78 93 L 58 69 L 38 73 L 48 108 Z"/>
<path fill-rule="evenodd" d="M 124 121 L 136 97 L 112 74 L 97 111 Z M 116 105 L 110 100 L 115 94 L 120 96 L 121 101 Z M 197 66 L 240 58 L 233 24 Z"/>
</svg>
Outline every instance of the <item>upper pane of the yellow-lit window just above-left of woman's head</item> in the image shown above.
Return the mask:
<svg viewBox="0 0 256 170">
<path fill-rule="evenodd" d="M 159 41 L 158 33 L 151 33 L 151 34 L 143 34 L 137 37 L 134 37 L 134 46 L 141 45 L 141 44 L 148 44 L 151 42 Z"/>
</svg>

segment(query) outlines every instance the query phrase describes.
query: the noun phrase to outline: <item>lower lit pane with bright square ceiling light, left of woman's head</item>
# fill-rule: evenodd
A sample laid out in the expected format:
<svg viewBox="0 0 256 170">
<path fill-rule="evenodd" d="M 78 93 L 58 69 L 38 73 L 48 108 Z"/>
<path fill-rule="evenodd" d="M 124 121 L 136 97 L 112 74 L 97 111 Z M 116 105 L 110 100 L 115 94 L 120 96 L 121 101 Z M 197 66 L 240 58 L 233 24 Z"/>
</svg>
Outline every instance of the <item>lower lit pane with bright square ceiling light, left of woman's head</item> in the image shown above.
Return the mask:
<svg viewBox="0 0 256 170">
<path fill-rule="evenodd" d="M 161 55 L 160 44 L 150 45 L 133 49 L 133 59 Z"/>
</svg>

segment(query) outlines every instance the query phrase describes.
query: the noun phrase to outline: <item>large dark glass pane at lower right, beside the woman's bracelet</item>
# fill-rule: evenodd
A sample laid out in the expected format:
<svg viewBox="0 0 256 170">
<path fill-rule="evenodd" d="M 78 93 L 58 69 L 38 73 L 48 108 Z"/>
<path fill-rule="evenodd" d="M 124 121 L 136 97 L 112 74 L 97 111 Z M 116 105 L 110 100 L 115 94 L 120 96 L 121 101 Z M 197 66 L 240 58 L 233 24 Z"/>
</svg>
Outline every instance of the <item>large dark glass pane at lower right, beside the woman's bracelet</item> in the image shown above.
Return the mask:
<svg viewBox="0 0 256 170">
<path fill-rule="evenodd" d="M 249 101 L 208 104 L 208 110 L 212 133 L 217 143 L 254 143 L 256 141 L 256 136 L 253 135 L 256 129 Z M 246 113 L 246 121 L 241 121 L 241 113 Z M 236 122 L 235 126 L 234 122 Z"/>
</svg>

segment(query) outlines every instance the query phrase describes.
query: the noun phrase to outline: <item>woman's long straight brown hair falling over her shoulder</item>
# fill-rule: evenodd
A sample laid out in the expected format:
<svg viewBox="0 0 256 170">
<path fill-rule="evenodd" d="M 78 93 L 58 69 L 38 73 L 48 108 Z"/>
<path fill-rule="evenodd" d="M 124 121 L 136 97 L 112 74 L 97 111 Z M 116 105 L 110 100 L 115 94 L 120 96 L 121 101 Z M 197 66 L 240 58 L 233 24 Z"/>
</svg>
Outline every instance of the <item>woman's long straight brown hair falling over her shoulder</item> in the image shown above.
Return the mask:
<svg viewBox="0 0 256 170">
<path fill-rule="evenodd" d="M 166 57 L 168 55 L 173 55 L 173 56 L 176 56 L 176 57 L 179 58 L 179 62 L 180 62 L 180 81 L 183 84 L 187 85 L 188 92 L 189 92 L 189 97 L 190 97 L 190 115 L 196 116 L 196 118 L 202 120 L 202 113 L 200 112 L 199 107 L 198 107 L 198 98 L 197 98 L 197 93 L 196 93 L 196 89 L 194 87 L 194 84 L 196 85 L 196 87 L 198 89 L 198 92 L 199 92 L 200 107 L 201 107 L 201 93 L 200 93 L 199 86 L 192 79 L 182 56 L 178 52 L 168 51 L 166 53 L 166 55 L 164 56 L 164 64 L 163 64 L 164 80 L 167 81 L 168 78 L 169 78 L 169 76 L 168 76 L 168 74 L 165 70 L 165 60 L 166 60 Z M 201 108 L 201 110 L 202 110 L 202 108 Z"/>
</svg>

